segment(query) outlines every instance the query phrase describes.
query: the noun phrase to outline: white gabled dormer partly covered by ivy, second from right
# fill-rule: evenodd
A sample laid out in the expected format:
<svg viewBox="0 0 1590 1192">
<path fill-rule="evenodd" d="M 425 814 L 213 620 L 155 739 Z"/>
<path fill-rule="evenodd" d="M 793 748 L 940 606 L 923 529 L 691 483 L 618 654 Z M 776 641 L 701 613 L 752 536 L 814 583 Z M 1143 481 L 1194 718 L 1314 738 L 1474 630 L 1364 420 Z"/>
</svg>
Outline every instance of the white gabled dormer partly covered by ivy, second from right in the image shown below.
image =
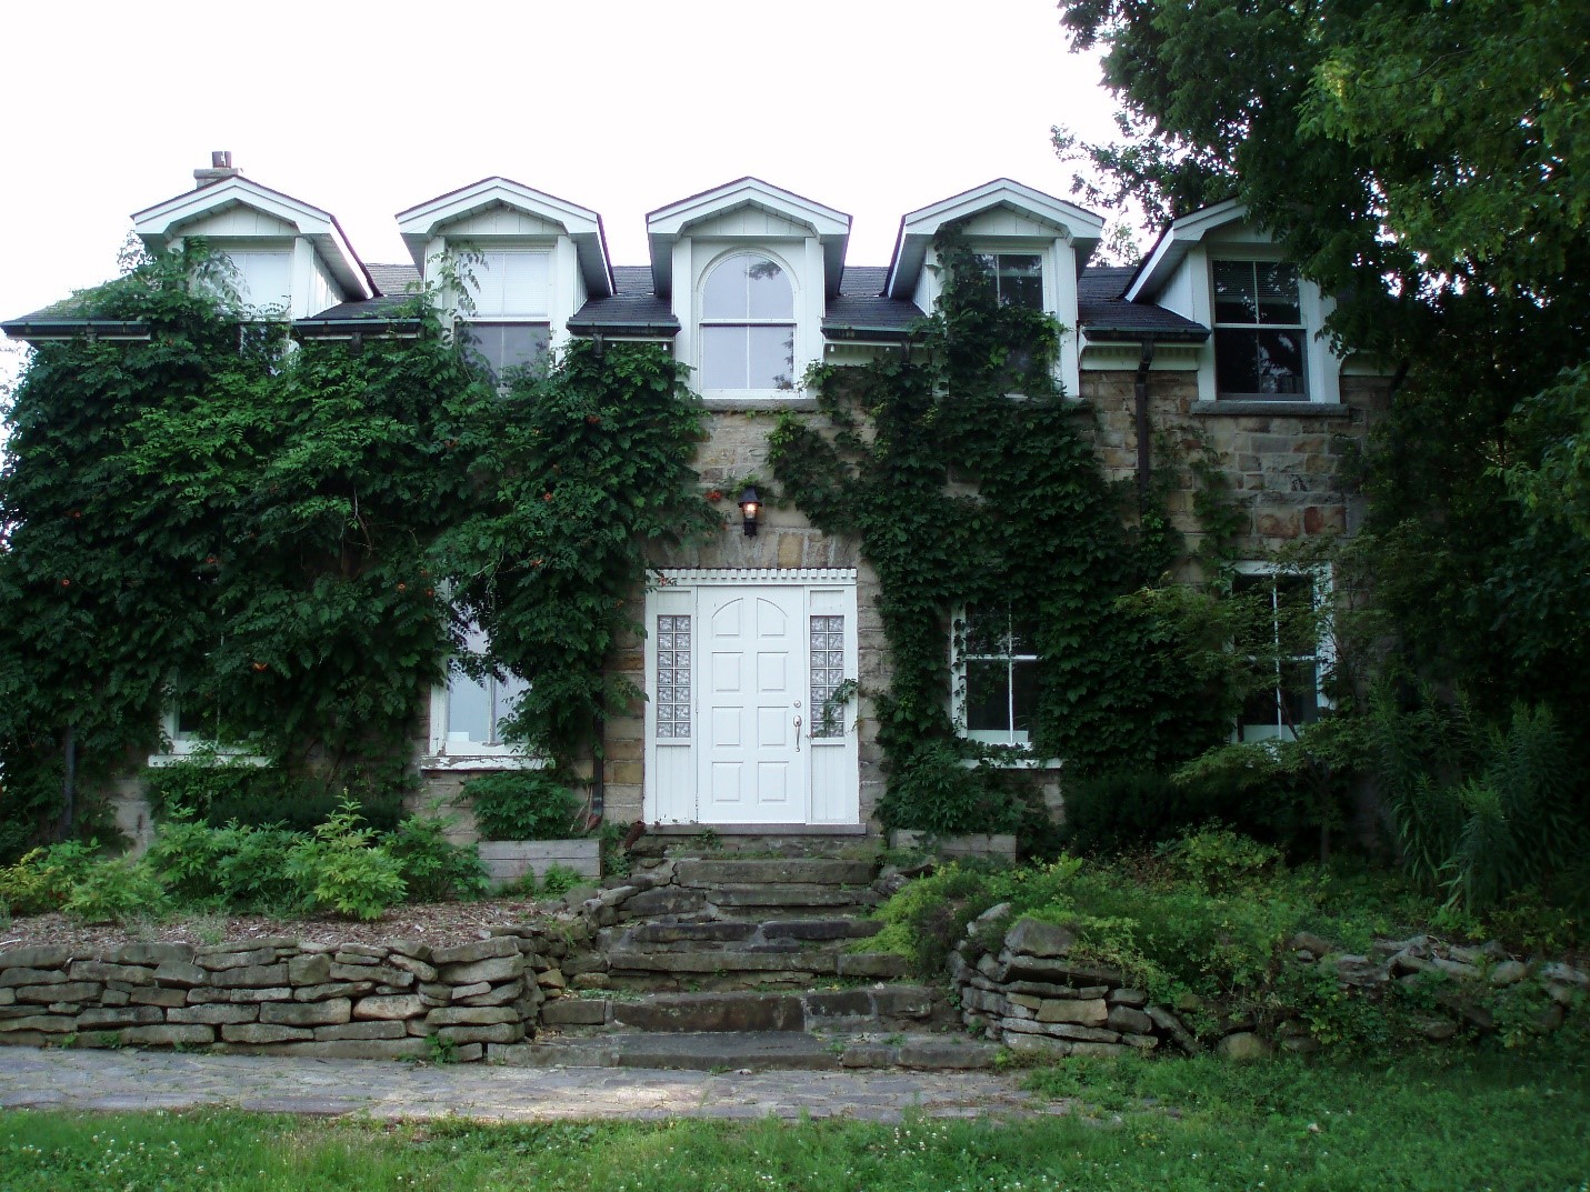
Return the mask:
<svg viewBox="0 0 1590 1192">
<path fill-rule="evenodd" d="M 1030 302 L 1076 326 L 1076 278 L 1103 235 L 1103 219 L 1010 178 L 911 211 L 900 219 L 884 294 L 932 312 L 943 289 L 933 237 L 957 227 L 994 273 L 1002 300 Z M 1059 378 L 1078 393 L 1075 335 L 1061 337 Z"/>
</svg>

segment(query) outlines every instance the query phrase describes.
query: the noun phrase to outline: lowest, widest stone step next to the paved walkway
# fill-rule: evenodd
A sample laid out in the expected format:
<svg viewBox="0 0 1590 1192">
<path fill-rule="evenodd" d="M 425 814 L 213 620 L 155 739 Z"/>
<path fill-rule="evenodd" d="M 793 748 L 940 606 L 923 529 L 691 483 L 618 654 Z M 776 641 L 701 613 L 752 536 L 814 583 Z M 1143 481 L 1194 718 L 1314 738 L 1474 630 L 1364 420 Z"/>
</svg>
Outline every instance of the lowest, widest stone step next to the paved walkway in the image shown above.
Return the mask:
<svg viewBox="0 0 1590 1192">
<path fill-rule="evenodd" d="M 491 1046 L 487 1060 L 526 1068 L 673 1068 L 746 1071 L 838 1068 L 989 1068 L 999 1049 L 938 1035 L 835 1035 L 805 1031 L 628 1031 Z"/>
</svg>

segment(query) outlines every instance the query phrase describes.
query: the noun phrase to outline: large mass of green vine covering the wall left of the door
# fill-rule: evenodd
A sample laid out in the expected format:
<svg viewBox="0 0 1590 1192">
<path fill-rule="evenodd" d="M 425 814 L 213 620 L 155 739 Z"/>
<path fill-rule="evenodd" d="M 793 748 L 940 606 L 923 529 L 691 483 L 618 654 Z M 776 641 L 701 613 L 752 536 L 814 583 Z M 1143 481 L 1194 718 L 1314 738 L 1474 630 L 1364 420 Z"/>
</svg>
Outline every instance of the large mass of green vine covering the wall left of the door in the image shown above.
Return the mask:
<svg viewBox="0 0 1590 1192">
<path fill-rule="evenodd" d="M 156 747 L 172 702 L 288 771 L 402 784 L 471 621 L 467 666 L 533 680 L 512 733 L 561 766 L 633 695 L 603 660 L 646 551 L 717 524 L 665 348 L 580 343 L 499 386 L 420 294 L 412 337 L 289 350 L 200 243 L 80 313 L 149 339 L 40 345 L 11 394 L 0 857 L 65 831 L 64 790 Z"/>
</svg>

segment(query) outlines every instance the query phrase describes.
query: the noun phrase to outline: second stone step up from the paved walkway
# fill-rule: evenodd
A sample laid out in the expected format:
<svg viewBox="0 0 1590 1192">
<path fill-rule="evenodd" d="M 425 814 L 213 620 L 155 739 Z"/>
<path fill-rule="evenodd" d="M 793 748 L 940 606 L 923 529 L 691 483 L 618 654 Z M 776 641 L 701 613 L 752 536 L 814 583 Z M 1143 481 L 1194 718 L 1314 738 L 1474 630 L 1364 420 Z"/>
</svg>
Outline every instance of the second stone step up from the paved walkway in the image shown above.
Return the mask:
<svg viewBox="0 0 1590 1192">
<path fill-rule="evenodd" d="M 631 1030 L 649 1033 L 921 1030 L 951 1022 L 925 985 L 879 984 L 805 992 L 653 993 L 642 998 L 560 998 L 542 1008 L 552 1033 Z"/>
</svg>

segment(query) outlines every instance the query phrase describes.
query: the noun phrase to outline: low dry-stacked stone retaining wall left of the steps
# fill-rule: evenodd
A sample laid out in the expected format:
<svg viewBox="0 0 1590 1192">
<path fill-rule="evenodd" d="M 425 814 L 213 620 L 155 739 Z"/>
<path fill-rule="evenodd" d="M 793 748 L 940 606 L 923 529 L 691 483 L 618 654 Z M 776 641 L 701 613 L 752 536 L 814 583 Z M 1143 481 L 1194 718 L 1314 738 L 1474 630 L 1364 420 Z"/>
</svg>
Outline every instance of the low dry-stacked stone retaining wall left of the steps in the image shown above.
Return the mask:
<svg viewBox="0 0 1590 1192">
<path fill-rule="evenodd" d="M 0 1043 L 480 1060 L 534 1035 L 561 992 L 534 928 L 448 947 L 288 938 L 0 952 Z M 432 1041 L 434 1039 L 434 1041 Z"/>
</svg>

